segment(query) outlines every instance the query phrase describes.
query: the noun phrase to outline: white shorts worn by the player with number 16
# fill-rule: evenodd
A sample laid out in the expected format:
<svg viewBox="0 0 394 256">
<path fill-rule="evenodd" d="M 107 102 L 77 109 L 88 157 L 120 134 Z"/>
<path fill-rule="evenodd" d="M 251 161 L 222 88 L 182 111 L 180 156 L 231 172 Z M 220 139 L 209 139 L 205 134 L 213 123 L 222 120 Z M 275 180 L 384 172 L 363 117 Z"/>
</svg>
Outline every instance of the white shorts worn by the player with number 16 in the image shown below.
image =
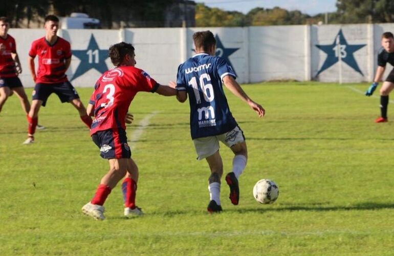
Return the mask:
<svg viewBox="0 0 394 256">
<path fill-rule="evenodd" d="M 219 141 L 231 147 L 245 141 L 244 132 L 239 126 L 235 126 L 233 130 L 224 134 L 194 139 L 194 148 L 198 155 L 197 159 L 202 160 L 215 154 L 220 148 Z"/>
</svg>

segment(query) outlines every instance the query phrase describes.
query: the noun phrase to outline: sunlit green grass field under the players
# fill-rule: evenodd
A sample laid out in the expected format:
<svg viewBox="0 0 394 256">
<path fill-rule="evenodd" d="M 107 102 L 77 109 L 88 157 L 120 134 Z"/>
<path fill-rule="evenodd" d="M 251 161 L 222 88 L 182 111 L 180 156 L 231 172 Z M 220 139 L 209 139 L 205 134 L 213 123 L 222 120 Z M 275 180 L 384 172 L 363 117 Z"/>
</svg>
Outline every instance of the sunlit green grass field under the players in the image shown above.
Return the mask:
<svg viewBox="0 0 394 256">
<path fill-rule="evenodd" d="M 127 134 L 145 216 L 122 217 L 118 185 L 103 222 L 80 211 L 108 164 L 76 110 L 52 95 L 40 112 L 47 130 L 26 146 L 26 118 L 13 96 L 0 114 L 0 255 L 393 254 L 394 127 L 374 123 L 379 99 L 358 92 L 367 86 L 244 86 L 266 109 L 262 119 L 227 91 L 249 162 L 239 180 L 239 205 L 231 205 L 224 182 L 218 215 L 206 211 L 209 169 L 195 160 L 188 103 L 138 94 Z M 83 102 L 91 91 L 78 90 Z M 389 104 L 389 120 L 393 113 Z M 232 154 L 221 152 L 227 173 Z M 273 205 L 252 196 L 262 178 L 279 186 Z"/>
</svg>

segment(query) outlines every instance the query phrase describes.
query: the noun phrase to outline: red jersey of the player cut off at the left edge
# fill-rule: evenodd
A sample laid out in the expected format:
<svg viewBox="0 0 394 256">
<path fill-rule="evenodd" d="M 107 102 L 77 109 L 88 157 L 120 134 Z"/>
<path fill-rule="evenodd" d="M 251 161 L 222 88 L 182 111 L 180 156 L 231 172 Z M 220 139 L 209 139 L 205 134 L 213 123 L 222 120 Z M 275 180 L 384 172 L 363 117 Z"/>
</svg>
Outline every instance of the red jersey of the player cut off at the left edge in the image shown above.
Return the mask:
<svg viewBox="0 0 394 256">
<path fill-rule="evenodd" d="M 0 44 L 5 47 L 3 51 L 0 50 L 0 78 L 15 77 L 15 61 L 11 56 L 11 53 L 16 53 L 15 39 L 10 35 L 6 38 L 0 36 Z"/>
</svg>

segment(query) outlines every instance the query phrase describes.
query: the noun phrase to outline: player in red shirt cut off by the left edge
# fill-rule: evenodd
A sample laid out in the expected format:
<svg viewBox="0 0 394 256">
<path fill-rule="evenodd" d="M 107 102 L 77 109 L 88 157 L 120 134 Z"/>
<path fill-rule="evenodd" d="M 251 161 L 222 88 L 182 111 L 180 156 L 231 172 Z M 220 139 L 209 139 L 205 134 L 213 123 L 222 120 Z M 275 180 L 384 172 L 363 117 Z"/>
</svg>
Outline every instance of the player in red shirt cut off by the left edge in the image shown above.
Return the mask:
<svg viewBox="0 0 394 256">
<path fill-rule="evenodd" d="M 18 74 L 22 73 L 22 67 L 16 53 L 15 39 L 8 34 L 9 28 L 8 18 L 0 17 L 0 112 L 8 97 L 15 92 L 27 115 L 30 103 L 18 78 Z M 37 128 L 43 129 L 43 126 L 37 125 Z"/>
</svg>

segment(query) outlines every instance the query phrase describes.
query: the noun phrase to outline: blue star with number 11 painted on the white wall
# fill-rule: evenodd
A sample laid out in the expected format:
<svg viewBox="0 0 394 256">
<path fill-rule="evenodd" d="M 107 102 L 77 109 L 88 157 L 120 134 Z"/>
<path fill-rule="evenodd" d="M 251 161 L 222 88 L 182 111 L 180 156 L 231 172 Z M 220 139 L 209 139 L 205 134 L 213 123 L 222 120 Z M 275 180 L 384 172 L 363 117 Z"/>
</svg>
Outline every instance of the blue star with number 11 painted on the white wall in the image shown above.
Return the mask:
<svg viewBox="0 0 394 256">
<path fill-rule="evenodd" d="M 93 34 L 90 37 L 87 49 L 73 50 L 73 55 L 79 58 L 81 62 L 75 70 L 71 81 L 91 69 L 95 69 L 101 74 L 108 70 L 108 67 L 105 63 L 105 59 L 108 58 L 108 50 L 99 49 L 96 38 L 94 38 Z"/>
</svg>

